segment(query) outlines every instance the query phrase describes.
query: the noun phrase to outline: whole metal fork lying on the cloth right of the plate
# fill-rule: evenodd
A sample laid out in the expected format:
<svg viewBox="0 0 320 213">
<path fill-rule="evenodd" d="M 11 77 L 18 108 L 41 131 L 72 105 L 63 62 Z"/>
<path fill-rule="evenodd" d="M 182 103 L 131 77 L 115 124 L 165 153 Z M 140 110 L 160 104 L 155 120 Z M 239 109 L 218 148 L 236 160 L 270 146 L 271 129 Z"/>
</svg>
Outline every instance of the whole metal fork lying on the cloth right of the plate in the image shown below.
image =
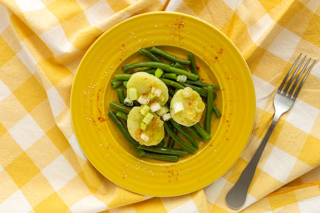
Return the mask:
<svg viewBox="0 0 320 213">
<path fill-rule="evenodd" d="M 263 138 L 260 146 L 258 147 L 256 153 L 254 154 L 253 158 L 250 160 L 250 162 L 248 163 L 246 168 L 243 170 L 238 181 L 231 188 L 231 190 L 228 192 L 228 194 L 225 197 L 226 204 L 228 206 L 230 206 L 231 208 L 238 209 L 243 206 L 244 201 L 246 199 L 246 194 L 248 192 L 249 185 L 254 177 L 259 159 L 260 159 L 261 154 L 264 150 L 264 147 L 266 146 L 267 141 L 272 133 L 273 128 L 275 128 L 275 125 L 277 124 L 279 117 L 292 107 L 292 105 L 296 99 L 296 96 L 298 96 L 298 93 L 299 93 L 303 83 L 305 82 L 306 78 L 308 77 L 308 75 L 309 75 L 309 73 L 315 63 L 315 60 L 314 60 L 312 62 L 312 64 L 310 65 L 309 69 L 307 70 L 307 72 L 305 73 L 305 70 L 311 60 L 311 58 L 310 58 L 307 61 L 307 63 L 304 65 L 304 67 L 302 68 L 299 76 L 296 77 L 296 75 L 299 73 L 299 70 L 307 57 L 307 56 L 305 56 L 302 59 L 302 61 L 300 62 L 300 64 L 298 65 L 298 67 L 295 69 L 291 78 L 288 80 L 290 74 L 292 73 L 292 70 L 294 69 L 296 63 L 298 63 L 301 55 L 302 54 L 300 54 L 299 57 L 295 60 L 292 67 L 290 68 L 288 74 L 286 75 L 286 77 L 284 78 L 284 80 L 282 81 L 281 85 L 279 86 L 279 88 L 276 92 L 275 99 L 273 100 L 273 105 L 275 106 L 275 115 L 273 116 L 272 123 L 271 123 L 266 135 L 264 136 L 264 138 Z M 302 77 L 303 77 L 303 79 L 300 81 L 300 79 Z M 287 82 L 287 80 L 288 80 L 288 82 Z M 294 83 L 292 84 L 293 81 L 294 81 Z M 300 81 L 300 84 L 299 84 L 298 88 L 295 89 L 295 87 L 296 87 L 296 85 L 298 85 L 299 81 Z M 291 84 L 292 84 L 292 86 L 291 86 Z"/>
</svg>

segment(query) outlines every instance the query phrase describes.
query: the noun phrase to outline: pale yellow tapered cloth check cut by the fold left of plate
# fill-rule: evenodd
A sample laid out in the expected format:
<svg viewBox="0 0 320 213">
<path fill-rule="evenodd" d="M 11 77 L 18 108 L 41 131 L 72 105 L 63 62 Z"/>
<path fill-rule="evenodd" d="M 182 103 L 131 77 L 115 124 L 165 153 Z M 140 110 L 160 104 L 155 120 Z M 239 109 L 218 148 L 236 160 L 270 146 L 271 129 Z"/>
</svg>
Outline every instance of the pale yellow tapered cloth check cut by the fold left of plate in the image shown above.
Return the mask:
<svg viewBox="0 0 320 213">
<path fill-rule="evenodd" d="M 44 99 L 30 114 L 43 132 L 49 131 L 56 125 L 48 99 Z"/>
</svg>

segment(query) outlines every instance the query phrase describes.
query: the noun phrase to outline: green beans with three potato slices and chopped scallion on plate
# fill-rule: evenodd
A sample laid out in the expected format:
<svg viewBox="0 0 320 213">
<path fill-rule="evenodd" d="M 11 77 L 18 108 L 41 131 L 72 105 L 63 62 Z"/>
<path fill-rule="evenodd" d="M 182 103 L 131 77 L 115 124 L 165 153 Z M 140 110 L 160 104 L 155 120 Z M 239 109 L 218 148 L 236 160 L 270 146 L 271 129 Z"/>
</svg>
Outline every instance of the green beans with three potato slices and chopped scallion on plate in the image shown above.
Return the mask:
<svg viewBox="0 0 320 213">
<path fill-rule="evenodd" d="M 111 81 L 118 100 L 108 115 L 138 156 L 178 161 L 211 139 L 219 86 L 201 80 L 192 53 L 181 59 L 155 46 L 139 53 L 146 61 L 124 65 Z"/>
</svg>

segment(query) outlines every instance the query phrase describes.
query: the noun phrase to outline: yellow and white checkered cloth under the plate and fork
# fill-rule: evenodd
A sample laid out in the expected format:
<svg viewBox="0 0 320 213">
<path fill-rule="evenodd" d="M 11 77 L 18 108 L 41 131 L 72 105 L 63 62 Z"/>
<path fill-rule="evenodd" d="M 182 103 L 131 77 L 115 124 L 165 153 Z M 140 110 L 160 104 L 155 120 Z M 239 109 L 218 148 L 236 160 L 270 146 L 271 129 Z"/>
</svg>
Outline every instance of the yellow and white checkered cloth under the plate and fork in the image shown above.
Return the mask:
<svg viewBox="0 0 320 213">
<path fill-rule="evenodd" d="M 71 124 L 73 78 L 108 28 L 150 11 L 197 16 L 247 61 L 256 122 L 234 167 L 195 193 L 149 198 L 98 173 Z M 273 94 L 300 54 L 320 56 L 318 0 L 0 0 L 0 212 L 320 212 L 320 63 L 273 131 L 243 209 L 225 195 L 271 122 Z"/>
</svg>

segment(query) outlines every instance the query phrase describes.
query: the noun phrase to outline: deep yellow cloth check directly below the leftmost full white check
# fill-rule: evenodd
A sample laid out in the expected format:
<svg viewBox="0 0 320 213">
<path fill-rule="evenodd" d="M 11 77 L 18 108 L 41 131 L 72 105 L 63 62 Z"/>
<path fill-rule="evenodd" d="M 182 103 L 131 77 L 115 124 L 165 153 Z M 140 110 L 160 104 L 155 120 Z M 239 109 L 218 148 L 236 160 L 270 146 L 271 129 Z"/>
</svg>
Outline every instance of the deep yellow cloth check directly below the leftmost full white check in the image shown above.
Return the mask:
<svg viewBox="0 0 320 213">
<path fill-rule="evenodd" d="M 5 170 L 20 188 L 39 174 L 40 170 L 30 159 L 27 153 L 22 152 Z"/>
</svg>

